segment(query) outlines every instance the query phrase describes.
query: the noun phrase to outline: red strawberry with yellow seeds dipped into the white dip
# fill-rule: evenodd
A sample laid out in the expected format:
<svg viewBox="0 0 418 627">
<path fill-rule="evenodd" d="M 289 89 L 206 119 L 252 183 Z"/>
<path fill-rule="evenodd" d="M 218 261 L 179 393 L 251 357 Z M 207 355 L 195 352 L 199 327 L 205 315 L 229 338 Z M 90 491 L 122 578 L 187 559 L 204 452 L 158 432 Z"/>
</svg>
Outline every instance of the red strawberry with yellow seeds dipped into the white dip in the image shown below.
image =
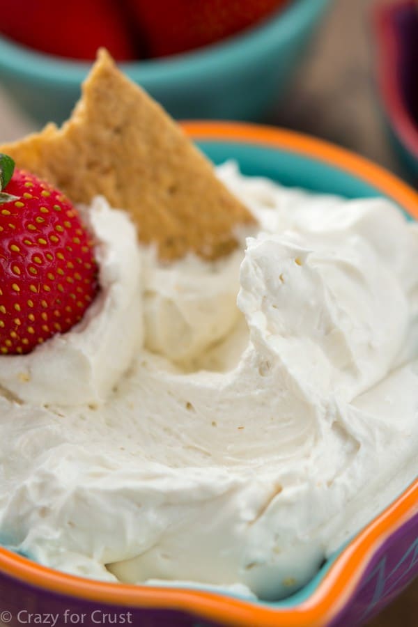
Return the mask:
<svg viewBox="0 0 418 627">
<path fill-rule="evenodd" d="M 29 353 L 68 331 L 98 291 L 93 242 L 75 208 L 45 181 L 13 168 L 0 155 L 3 355 Z"/>
</svg>

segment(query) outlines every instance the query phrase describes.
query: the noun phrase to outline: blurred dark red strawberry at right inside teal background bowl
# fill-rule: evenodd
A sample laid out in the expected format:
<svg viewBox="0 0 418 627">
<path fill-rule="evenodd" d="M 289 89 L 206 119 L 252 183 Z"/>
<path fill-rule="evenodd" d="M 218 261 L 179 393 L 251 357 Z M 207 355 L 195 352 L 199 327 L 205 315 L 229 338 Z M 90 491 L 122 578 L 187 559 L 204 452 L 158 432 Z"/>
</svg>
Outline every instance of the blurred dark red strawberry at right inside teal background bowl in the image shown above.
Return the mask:
<svg viewBox="0 0 418 627">
<path fill-rule="evenodd" d="M 126 0 L 141 24 L 150 56 L 176 54 L 256 24 L 287 0 Z"/>
</svg>

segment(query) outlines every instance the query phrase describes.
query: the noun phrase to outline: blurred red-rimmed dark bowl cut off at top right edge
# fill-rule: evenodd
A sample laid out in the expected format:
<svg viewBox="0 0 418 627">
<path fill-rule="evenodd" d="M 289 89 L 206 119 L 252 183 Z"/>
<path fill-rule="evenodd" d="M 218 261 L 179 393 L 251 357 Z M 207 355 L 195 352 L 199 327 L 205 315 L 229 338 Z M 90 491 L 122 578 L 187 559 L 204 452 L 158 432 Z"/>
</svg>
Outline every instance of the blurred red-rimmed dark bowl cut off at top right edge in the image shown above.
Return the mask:
<svg viewBox="0 0 418 627">
<path fill-rule="evenodd" d="M 380 6 L 373 23 L 383 112 L 396 151 L 418 183 L 418 4 Z"/>
</svg>

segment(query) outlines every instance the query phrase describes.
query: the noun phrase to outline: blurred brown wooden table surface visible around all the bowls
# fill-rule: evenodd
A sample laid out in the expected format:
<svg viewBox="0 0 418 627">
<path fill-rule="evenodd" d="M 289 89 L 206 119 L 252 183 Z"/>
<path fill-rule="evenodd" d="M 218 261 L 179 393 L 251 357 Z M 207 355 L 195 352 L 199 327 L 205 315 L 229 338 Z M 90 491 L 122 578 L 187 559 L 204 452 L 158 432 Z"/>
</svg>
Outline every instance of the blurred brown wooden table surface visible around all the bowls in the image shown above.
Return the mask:
<svg viewBox="0 0 418 627">
<path fill-rule="evenodd" d="M 387 141 L 374 82 L 371 13 L 391 1 L 333 0 L 288 98 L 268 121 L 334 141 L 404 176 Z M 0 91 L 0 141 L 34 128 Z M 368 627 L 417 625 L 418 581 Z"/>
</svg>

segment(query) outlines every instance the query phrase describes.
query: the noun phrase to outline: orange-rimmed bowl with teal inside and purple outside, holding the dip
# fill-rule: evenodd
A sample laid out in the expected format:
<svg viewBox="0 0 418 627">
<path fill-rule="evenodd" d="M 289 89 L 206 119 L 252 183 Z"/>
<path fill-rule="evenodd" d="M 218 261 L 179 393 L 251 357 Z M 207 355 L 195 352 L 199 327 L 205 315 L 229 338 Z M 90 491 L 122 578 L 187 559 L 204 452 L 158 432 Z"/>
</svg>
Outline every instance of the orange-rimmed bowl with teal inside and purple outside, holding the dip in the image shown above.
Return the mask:
<svg viewBox="0 0 418 627">
<path fill-rule="evenodd" d="M 353 153 L 295 132 L 195 122 L 187 133 L 215 162 L 248 175 L 350 198 L 386 196 L 418 219 L 418 194 Z M 346 627 L 379 612 L 418 574 L 418 479 L 323 564 L 293 596 L 274 603 L 203 587 L 115 585 L 66 575 L 0 548 L 0 624 L 53 614 L 56 625 L 147 627 Z M 101 622 L 100 622 L 101 621 Z M 46 624 L 46 623 L 44 623 Z"/>
</svg>

